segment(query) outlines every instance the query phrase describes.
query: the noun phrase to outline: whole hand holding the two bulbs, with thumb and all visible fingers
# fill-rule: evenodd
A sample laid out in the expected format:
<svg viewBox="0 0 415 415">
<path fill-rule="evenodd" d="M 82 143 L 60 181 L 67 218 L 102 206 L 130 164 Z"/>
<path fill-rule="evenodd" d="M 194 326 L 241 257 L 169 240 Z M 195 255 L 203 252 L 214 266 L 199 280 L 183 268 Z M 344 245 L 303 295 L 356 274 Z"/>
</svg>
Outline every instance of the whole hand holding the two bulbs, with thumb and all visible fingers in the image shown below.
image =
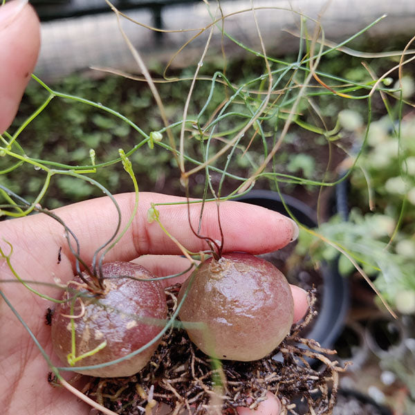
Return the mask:
<svg viewBox="0 0 415 415">
<path fill-rule="evenodd" d="M 0 131 L 5 130 L 15 116 L 21 95 L 30 79 L 39 50 L 39 22 L 28 5 L 11 1 L 0 8 Z M 134 194 L 119 194 L 123 223 L 131 215 Z M 183 200 L 174 196 L 143 193 L 140 205 L 129 230 L 120 242 L 108 252 L 105 261 L 138 261 L 145 263 L 156 275 L 175 273 L 183 266 L 176 244 L 157 223 L 147 222 L 147 210 L 153 203 Z M 191 220 L 197 223 L 199 209 L 192 207 Z M 76 234 L 81 246 L 82 259 L 91 263 L 95 250 L 109 239 L 116 229 L 118 216 L 109 198 L 100 198 L 55 210 Z M 203 234 L 219 239 L 216 205 L 208 203 L 203 216 Z M 204 242 L 194 236 L 188 225 L 187 207 L 163 206 L 160 219 L 186 248 L 199 251 Z M 221 223 L 225 235 L 225 251 L 246 251 L 253 254 L 270 252 L 286 245 L 297 232 L 289 219 L 275 212 L 235 202 L 221 203 Z M 75 259 L 68 248 L 62 225 L 44 214 L 0 223 L 0 248 L 6 254 L 13 247 L 11 265 L 17 275 L 29 280 L 45 295 L 59 297 L 55 279 L 68 282 L 75 273 Z M 61 261 L 57 261 L 62 247 Z M 143 255 L 151 255 L 144 256 Z M 157 257 L 155 257 L 157 255 Z M 163 255 L 163 257 L 160 257 Z M 167 257 L 164 255 L 168 255 Z M 157 260 L 155 262 L 155 259 Z M 4 259 L 0 259 L 0 290 L 14 306 L 22 320 L 33 332 L 49 356 L 53 355 L 50 327 L 44 322 L 48 304 L 43 299 L 22 289 Z M 3 284 L 1 281 L 3 280 Z M 293 287 L 295 320 L 304 315 L 307 303 L 304 292 Z M 51 388 L 46 374 L 48 368 L 28 331 L 17 320 L 3 299 L 0 299 L 0 406 L 5 414 L 87 414 L 89 408 L 64 388 Z M 247 415 L 249 409 L 239 410 Z M 273 397 L 261 404 L 257 415 L 278 414 L 279 403 Z"/>
</svg>

